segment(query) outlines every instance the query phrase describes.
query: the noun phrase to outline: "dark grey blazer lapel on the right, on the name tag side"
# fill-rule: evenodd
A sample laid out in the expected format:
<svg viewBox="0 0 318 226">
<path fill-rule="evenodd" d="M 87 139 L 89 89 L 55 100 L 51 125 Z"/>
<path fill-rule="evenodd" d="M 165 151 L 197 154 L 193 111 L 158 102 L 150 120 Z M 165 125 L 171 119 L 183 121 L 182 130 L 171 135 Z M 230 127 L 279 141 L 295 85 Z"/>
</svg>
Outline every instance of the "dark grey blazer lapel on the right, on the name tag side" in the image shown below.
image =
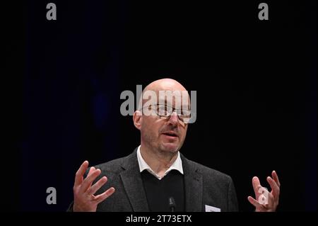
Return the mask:
<svg viewBox="0 0 318 226">
<path fill-rule="evenodd" d="M 187 212 L 202 211 L 203 179 L 194 164 L 181 154 L 184 171 L 185 210 Z"/>
</svg>

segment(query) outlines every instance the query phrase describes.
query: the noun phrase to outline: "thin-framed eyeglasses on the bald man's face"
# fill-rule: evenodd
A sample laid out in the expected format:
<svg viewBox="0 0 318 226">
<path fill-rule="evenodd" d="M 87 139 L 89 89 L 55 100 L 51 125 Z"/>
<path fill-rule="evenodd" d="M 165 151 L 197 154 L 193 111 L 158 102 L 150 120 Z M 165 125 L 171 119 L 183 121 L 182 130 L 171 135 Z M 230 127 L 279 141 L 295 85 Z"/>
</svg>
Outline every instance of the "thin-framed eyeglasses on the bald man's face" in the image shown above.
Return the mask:
<svg viewBox="0 0 318 226">
<path fill-rule="evenodd" d="M 170 118 L 172 113 L 175 111 L 178 115 L 179 120 L 182 121 L 184 124 L 189 123 L 189 120 L 191 118 L 191 111 L 185 109 L 176 109 L 163 104 L 149 105 L 144 106 L 143 108 L 148 108 L 148 111 L 154 111 L 158 116 L 164 118 Z"/>
</svg>

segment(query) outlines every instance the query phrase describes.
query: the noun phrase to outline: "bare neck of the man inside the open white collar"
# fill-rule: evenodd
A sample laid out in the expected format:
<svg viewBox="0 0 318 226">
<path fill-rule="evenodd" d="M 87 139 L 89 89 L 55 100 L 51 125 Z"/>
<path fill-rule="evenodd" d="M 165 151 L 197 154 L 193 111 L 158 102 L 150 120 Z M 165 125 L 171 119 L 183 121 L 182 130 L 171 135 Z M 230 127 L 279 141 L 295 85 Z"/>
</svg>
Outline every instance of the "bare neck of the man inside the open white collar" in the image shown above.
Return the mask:
<svg viewBox="0 0 318 226">
<path fill-rule="evenodd" d="M 155 151 L 147 148 L 145 145 L 141 145 L 140 152 L 143 160 L 158 176 L 164 176 L 165 171 L 170 168 L 178 157 L 178 152 Z"/>
</svg>

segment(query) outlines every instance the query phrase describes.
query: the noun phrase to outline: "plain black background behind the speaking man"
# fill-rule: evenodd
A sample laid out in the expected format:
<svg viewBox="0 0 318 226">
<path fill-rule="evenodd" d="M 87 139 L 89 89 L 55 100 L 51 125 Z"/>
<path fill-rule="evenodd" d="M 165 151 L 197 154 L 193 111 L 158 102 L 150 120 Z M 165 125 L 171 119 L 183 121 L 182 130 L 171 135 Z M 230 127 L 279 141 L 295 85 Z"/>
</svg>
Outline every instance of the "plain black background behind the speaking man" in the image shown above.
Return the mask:
<svg viewBox="0 0 318 226">
<path fill-rule="evenodd" d="M 54 1 L 57 21 L 48 3 L 4 21 L 5 210 L 66 210 L 83 160 L 139 145 L 121 92 L 164 77 L 197 91 L 181 152 L 232 176 L 240 210 L 273 169 L 278 210 L 317 210 L 317 1 L 266 1 L 269 21 L 261 1 Z"/>
</svg>

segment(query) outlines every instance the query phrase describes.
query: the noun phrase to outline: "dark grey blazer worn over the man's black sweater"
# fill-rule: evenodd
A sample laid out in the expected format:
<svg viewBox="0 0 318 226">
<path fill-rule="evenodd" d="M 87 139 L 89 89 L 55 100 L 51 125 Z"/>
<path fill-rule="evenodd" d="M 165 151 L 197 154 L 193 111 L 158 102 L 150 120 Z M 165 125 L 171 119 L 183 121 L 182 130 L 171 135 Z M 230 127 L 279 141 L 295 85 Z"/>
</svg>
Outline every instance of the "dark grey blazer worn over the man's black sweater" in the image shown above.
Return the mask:
<svg viewBox="0 0 318 226">
<path fill-rule="evenodd" d="M 182 154 L 180 157 L 184 171 L 186 211 L 205 211 L 205 205 L 220 208 L 221 211 L 238 210 L 235 188 L 230 176 L 192 162 Z M 115 188 L 112 196 L 98 205 L 97 211 L 149 211 L 136 149 L 126 157 L 114 159 L 95 168 L 102 171 L 98 179 L 102 176 L 107 176 L 108 179 L 97 194 L 110 187 Z M 69 211 L 72 208 L 73 203 Z"/>
</svg>

